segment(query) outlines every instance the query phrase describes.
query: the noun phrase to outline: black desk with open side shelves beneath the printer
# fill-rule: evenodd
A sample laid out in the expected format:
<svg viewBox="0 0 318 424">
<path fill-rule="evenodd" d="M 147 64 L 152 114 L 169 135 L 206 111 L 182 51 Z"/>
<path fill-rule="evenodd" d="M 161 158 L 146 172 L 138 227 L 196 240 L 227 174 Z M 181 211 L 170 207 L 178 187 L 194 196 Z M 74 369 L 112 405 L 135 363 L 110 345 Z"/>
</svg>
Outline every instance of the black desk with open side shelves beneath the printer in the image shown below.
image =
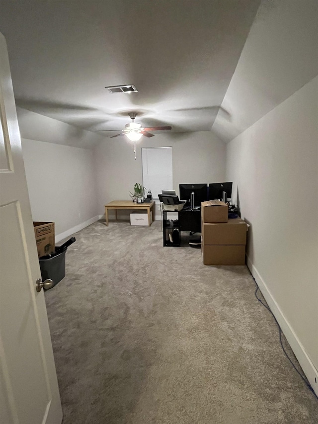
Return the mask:
<svg viewBox="0 0 318 424">
<path fill-rule="evenodd" d="M 167 221 L 167 214 L 175 214 L 175 219 Z M 174 230 L 179 232 L 177 239 L 172 239 Z M 196 210 L 163 211 L 163 246 L 180 246 L 180 231 L 201 233 L 201 208 Z M 171 236 L 171 240 L 170 237 Z"/>
</svg>

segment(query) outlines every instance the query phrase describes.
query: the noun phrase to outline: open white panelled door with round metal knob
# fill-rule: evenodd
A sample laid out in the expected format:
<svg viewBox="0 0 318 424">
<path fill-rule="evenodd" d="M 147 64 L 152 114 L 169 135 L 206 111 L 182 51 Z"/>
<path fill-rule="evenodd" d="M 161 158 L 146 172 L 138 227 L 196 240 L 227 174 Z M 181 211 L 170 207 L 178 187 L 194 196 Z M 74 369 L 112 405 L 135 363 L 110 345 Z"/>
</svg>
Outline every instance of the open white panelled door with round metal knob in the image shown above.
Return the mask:
<svg viewBox="0 0 318 424">
<path fill-rule="evenodd" d="M 62 408 L 6 51 L 0 34 L 0 423 L 60 424 Z"/>
</svg>

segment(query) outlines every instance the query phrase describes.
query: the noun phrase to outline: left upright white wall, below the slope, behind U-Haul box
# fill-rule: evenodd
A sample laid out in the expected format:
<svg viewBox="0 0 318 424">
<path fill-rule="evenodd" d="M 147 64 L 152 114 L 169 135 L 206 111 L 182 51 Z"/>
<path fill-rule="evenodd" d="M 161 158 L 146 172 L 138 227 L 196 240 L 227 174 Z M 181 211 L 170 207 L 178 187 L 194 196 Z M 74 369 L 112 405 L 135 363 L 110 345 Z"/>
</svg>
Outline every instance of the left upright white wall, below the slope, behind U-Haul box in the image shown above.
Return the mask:
<svg viewBox="0 0 318 424">
<path fill-rule="evenodd" d="M 97 219 L 93 151 L 22 139 L 33 221 L 55 222 L 56 243 Z"/>
</svg>

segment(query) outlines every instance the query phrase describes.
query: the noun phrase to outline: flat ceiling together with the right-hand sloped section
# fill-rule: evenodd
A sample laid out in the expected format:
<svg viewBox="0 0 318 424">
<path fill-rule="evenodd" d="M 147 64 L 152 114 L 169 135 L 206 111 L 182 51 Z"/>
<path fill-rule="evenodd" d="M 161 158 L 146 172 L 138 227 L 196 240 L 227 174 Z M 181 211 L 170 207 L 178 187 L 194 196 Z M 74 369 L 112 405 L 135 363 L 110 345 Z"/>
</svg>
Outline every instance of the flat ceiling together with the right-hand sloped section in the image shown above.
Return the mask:
<svg viewBox="0 0 318 424">
<path fill-rule="evenodd" d="M 23 109 L 105 136 L 136 111 L 228 141 L 317 75 L 316 16 L 315 0 L 2 0 L 0 31 Z"/>
</svg>

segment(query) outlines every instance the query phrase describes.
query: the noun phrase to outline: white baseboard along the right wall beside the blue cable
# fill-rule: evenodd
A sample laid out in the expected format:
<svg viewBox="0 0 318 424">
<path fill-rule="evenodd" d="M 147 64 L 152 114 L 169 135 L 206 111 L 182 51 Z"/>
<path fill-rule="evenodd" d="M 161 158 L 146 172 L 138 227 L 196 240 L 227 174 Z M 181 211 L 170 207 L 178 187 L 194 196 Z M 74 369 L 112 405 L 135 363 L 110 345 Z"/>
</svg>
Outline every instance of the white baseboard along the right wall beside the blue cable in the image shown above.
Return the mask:
<svg viewBox="0 0 318 424">
<path fill-rule="evenodd" d="M 282 332 L 284 333 L 284 336 L 286 337 L 288 343 L 293 349 L 293 352 L 298 362 L 300 363 L 300 366 L 302 367 L 310 385 L 312 386 L 314 392 L 318 396 L 318 370 L 316 369 L 315 365 L 313 364 L 310 357 L 306 353 L 304 346 L 302 345 L 301 341 L 298 339 L 298 337 L 294 333 L 294 330 L 292 329 L 289 322 L 285 318 L 280 307 L 276 303 L 266 283 L 264 282 L 264 280 L 262 279 L 262 277 L 260 276 L 257 269 L 252 264 L 251 260 L 249 259 L 247 255 L 246 255 L 246 263 L 247 263 L 248 269 L 250 270 L 251 274 L 255 278 L 255 281 L 260 291 L 262 292 L 262 295 L 264 296 L 269 308 L 271 309 L 278 324 L 280 325 Z"/>
</svg>

